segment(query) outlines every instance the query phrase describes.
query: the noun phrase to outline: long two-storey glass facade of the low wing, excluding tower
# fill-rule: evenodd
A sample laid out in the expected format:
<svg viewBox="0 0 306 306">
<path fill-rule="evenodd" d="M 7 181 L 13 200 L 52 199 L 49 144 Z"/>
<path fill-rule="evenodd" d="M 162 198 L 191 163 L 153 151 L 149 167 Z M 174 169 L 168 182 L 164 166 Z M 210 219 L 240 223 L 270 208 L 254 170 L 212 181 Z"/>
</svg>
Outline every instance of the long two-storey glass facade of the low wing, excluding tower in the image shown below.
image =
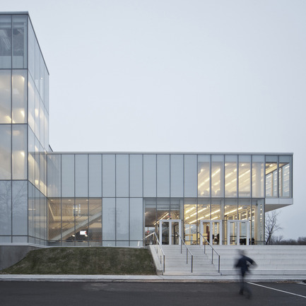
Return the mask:
<svg viewBox="0 0 306 306">
<path fill-rule="evenodd" d="M 262 244 L 265 198 L 292 198 L 292 155 L 49 153 L 47 182 L 49 245 L 141 246 L 159 220 L 182 220 L 189 244 L 205 220 L 220 220 L 222 244 L 247 220 Z"/>
</svg>

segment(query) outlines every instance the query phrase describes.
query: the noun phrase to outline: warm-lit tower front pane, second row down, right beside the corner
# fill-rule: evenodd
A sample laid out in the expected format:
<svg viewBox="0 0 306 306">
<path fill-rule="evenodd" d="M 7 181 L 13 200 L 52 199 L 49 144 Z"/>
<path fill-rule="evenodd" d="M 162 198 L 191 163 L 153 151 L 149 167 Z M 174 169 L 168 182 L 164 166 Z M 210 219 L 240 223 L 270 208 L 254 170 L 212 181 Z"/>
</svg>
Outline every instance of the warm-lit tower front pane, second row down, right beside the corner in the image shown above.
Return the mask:
<svg viewBox="0 0 306 306">
<path fill-rule="evenodd" d="M 12 76 L 12 116 L 13 123 L 25 123 L 27 121 L 27 71 L 13 70 Z"/>
</svg>

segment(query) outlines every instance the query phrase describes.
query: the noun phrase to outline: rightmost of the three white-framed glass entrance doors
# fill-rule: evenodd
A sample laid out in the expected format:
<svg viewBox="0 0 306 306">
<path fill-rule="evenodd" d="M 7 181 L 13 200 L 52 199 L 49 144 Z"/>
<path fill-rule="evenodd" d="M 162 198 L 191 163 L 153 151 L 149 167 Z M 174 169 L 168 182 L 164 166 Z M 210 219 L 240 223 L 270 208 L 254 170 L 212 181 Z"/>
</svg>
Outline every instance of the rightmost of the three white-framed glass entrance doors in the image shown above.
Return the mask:
<svg viewBox="0 0 306 306">
<path fill-rule="evenodd" d="M 249 220 L 228 220 L 228 245 L 249 245 Z"/>
</svg>

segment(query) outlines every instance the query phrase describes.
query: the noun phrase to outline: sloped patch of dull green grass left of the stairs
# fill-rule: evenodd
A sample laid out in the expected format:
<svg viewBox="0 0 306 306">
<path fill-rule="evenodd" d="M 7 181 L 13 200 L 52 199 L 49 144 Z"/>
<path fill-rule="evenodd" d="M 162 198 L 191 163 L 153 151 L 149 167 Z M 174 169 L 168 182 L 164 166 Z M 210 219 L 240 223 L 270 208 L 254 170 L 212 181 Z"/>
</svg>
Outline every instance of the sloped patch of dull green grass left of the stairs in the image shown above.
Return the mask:
<svg viewBox="0 0 306 306">
<path fill-rule="evenodd" d="M 156 275 L 149 250 L 129 247 L 37 249 L 1 273 Z"/>
</svg>

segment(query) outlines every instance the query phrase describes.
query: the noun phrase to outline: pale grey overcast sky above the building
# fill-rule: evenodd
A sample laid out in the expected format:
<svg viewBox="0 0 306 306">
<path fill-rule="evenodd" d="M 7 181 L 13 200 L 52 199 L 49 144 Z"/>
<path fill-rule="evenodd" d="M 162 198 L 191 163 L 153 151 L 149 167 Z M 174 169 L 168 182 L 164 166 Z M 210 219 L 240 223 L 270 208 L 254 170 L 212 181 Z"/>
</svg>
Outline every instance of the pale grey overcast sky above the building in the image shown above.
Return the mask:
<svg viewBox="0 0 306 306">
<path fill-rule="evenodd" d="M 306 236 L 306 1 L 10 0 L 50 73 L 54 151 L 293 152 Z"/>
</svg>

